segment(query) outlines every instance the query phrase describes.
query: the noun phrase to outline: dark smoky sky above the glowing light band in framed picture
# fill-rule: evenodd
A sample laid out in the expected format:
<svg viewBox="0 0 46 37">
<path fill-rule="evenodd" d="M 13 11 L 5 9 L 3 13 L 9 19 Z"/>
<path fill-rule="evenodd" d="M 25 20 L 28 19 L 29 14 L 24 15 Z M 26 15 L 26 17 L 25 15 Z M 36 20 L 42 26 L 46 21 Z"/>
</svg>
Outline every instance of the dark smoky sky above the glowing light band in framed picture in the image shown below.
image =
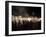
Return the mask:
<svg viewBox="0 0 46 37">
<path fill-rule="evenodd" d="M 41 17 L 41 7 L 12 6 L 12 15 Z"/>
</svg>

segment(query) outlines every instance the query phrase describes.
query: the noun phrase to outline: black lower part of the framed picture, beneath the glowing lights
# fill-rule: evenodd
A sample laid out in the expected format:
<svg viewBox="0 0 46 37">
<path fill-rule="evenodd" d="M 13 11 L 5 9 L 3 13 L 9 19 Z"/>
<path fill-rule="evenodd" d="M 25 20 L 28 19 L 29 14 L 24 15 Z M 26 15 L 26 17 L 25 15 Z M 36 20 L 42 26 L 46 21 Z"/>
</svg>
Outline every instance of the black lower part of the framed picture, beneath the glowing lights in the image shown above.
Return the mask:
<svg viewBox="0 0 46 37">
<path fill-rule="evenodd" d="M 33 23 L 33 22 L 23 22 L 23 25 L 18 23 L 18 27 L 16 24 L 12 23 L 12 31 L 16 30 L 39 30 L 41 29 L 41 22 Z"/>
</svg>

